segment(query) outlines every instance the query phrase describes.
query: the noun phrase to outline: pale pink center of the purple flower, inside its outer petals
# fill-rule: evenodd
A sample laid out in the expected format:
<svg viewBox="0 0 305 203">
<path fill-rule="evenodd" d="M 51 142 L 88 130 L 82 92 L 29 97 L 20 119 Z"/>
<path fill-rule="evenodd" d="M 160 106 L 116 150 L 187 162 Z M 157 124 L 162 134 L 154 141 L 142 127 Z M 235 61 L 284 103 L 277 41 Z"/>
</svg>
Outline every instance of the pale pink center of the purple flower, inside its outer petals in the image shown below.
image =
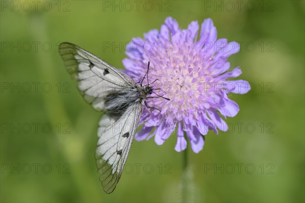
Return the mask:
<svg viewBox="0 0 305 203">
<path fill-rule="evenodd" d="M 154 83 L 155 92 L 170 99 L 154 98 L 147 100 L 148 104 L 176 120 L 198 112 L 206 94 L 204 82 L 210 78 L 204 67 L 207 64 L 204 53 L 185 43 L 173 45 L 171 52 L 158 50 L 147 55 L 153 63 L 149 78 L 158 79 Z"/>
</svg>

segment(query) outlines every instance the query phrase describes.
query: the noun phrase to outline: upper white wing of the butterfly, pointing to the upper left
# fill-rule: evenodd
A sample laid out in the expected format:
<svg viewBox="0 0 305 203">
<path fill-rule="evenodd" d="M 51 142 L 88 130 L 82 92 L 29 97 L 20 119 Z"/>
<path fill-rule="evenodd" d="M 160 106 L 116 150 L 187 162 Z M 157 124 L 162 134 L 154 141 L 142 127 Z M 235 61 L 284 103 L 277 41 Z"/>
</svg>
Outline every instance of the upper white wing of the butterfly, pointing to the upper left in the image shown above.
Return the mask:
<svg viewBox="0 0 305 203">
<path fill-rule="evenodd" d="M 123 71 L 77 45 L 62 43 L 59 53 L 68 72 L 78 80 L 78 89 L 85 101 L 97 111 L 104 110 L 109 93 L 136 85 Z"/>
</svg>

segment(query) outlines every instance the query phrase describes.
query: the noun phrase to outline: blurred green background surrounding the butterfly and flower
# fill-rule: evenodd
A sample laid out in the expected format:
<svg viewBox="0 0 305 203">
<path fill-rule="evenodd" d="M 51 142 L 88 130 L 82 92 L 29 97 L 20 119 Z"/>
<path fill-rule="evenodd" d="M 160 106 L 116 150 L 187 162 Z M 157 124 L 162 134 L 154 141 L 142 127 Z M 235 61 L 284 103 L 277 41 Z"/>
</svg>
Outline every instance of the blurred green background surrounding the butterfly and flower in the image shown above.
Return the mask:
<svg viewBox="0 0 305 203">
<path fill-rule="evenodd" d="M 199 154 L 188 143 L 187 200 L 304 202 L 303 1 L 36 2 L 1 1 L 1 202 L 181 201 L 174 134 L 162 146 L 135 141 L 115 191 L 104 193 L 94 158 L 101 113 L 57 52 L 68 41 L 123 68 L 120 43 L 167 16 L 181 28 L 212 18 L 218 38 L 241 42 L 229 61 L 252 83 L 230 95 L 240 112 L 227 118 L 229 132 L 209 132 Z"/>
</svg>

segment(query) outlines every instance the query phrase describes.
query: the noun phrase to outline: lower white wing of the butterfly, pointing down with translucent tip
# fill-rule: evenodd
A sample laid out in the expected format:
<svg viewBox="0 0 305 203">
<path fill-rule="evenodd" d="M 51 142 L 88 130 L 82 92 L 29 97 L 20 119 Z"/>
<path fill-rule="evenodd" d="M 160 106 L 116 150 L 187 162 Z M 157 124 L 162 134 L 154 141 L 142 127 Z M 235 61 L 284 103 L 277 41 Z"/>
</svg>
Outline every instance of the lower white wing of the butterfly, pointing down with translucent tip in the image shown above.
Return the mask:
<svg viewBox="0 0 305 203">
<path fill-rule="evenodd" d="M 141 113 L 142 105 L 136 104 L 130 106 L 118 120 L 106 114 L 100 120 L 96 160 L 106 193 L 111 193 L 120 179 Z"/>
</svg>

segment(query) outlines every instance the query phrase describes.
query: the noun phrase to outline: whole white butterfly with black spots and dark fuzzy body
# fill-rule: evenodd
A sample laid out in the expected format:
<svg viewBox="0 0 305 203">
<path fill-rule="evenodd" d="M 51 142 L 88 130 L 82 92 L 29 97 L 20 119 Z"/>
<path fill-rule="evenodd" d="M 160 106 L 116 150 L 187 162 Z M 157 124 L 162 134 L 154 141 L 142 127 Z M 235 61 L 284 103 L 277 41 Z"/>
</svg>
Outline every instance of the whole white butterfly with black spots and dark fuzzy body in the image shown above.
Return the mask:
<svg viewBox="0 0 305 203">
<path fill-rule="evenodd" d="M 149 96 L 155 93 L 150 85 L 156 81 L 148 82 L 150 63 L 141 83 L 136 83 L 123 71 L 77 45 L 62 43 L 59 54 L 68 72 L 78 81 L 84 100 L 104 112 L 99 121 L 95 157 L 103 189 L 111 193 L 123 172 L 143 105 L 156 109 L 146 103 L 147 98 L 155 98 Z M 145 76 L 147 85 L 142 85 Z"/>
</svg>

